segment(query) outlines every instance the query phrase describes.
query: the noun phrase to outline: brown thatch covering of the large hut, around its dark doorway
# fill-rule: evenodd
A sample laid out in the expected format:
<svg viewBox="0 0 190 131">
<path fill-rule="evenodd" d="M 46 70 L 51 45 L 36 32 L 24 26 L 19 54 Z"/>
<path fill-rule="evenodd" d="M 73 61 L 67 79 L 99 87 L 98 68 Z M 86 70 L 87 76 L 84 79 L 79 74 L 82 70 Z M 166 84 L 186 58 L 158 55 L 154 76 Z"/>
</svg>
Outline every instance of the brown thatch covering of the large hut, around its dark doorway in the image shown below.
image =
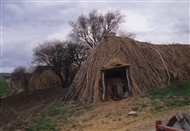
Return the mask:
<svg viewBox="0 0 190 131">
<path fill-rule="evenodd" d="M 156 45 L 107 37 L 89 54 L 64 100 L 101 101 L 101 70 L 129 66 L 132 95 L 190 78 L 190 45 Z"/>
</svg>

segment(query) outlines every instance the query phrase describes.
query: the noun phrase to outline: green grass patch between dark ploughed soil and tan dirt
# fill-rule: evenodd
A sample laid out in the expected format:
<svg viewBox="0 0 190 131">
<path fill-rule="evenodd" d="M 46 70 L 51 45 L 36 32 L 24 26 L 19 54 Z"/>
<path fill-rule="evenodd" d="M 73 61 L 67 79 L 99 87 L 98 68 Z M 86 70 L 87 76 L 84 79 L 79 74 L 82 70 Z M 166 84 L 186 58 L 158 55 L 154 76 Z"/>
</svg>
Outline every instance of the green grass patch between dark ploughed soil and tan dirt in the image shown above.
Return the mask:
<svg viewBox="0 0 190 131">
<path fill-rule="evenodd" d="M 34 120 L 35 126 L 29 127 L 27 131 L 61 130 L 64 125 L 76 123 L 77 117 L 92 109 L 92 105 L 84 106 L 79 102 L 67 103 L 57 100 L 41 112 L 41 118 Z"/>
</svg>

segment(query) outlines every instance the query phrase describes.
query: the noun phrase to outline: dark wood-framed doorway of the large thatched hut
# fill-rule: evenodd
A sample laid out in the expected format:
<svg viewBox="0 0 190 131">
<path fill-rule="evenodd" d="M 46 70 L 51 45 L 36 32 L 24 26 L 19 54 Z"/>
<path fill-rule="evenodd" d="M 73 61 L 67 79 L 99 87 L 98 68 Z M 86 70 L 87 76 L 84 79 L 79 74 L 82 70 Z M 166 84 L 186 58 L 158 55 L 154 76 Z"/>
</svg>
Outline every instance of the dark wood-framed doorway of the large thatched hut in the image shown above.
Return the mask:
<svg viewBox="0 0 190 131">
<path fill-rule="evenodd" d="M 128 97 L 131 92 L 128 76 L 129 65 L 119 65 L 102 69 L 102 99 L 113 100 Z"/>
</svg>

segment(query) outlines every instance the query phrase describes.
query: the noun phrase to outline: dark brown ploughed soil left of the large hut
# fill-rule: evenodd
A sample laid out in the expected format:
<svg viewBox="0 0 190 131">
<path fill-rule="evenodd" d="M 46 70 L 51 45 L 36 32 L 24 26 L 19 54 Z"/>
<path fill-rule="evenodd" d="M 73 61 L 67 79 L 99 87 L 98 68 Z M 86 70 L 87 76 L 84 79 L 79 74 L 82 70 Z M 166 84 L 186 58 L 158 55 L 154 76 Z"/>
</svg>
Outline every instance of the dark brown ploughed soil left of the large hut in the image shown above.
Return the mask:
<svg viewBox="0 0 190 131">
<path fill-rule="evenodd" d="M 22 131 L 28 127 L 32 119 L 39 117 L 41 110 L 56 99 L 63 98 L 66 90 L 45 89 L 21 92 L 0 99 L 0 131 Z"/>
</svg>

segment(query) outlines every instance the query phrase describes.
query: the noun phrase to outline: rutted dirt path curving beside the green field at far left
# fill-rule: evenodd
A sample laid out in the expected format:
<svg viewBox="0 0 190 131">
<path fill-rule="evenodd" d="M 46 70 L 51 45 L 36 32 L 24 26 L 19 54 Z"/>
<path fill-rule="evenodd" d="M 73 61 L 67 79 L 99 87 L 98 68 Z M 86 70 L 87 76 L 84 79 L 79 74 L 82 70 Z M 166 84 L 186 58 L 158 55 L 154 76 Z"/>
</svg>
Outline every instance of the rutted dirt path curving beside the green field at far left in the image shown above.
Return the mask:
<svg viewBox="0 0 190 131">
<path fill-rule="evenodd" d="M 3 96 L 1 96 L 1 99 L 6 98 L 6 97 L 11 96 L 11 95 L 14 95 L 19 91 L 17 88 L 15 88 L 13 86 L 13 83 L 11 82 L 11 80 L 8 79 L 8 80 L 6 80 L 6 82 L 8 85 L 9 92 L 7 94 L 4 94 Z"/>
</svg>

